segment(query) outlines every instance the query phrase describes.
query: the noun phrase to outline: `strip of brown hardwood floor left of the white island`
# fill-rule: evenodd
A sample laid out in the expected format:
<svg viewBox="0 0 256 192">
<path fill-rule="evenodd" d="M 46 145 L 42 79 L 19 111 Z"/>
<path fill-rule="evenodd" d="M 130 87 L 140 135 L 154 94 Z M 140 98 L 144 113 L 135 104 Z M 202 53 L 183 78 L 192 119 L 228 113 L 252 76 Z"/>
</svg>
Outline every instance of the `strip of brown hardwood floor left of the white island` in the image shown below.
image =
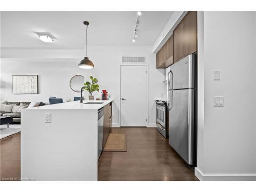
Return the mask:
<svg viewBox="0 0 256 192">
<path fill-rule="evenodd" d="M 20 133 L 0 140 L 0 180 L 20 180 Z"/>
</svg>

